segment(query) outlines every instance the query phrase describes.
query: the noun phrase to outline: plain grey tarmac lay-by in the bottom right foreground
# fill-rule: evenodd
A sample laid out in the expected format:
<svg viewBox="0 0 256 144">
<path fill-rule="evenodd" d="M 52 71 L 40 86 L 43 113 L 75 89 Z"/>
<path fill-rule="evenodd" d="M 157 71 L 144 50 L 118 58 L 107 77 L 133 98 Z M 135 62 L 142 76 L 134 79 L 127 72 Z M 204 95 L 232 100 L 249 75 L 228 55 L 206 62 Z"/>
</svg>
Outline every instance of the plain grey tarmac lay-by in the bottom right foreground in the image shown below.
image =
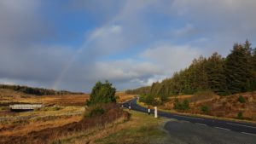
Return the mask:
<svg viewBox="0 0 256 144">
<path fill-rule="evenodd" d="M 207 125 L 182 120 L 170 120 L 165 124 L 167 140 L 162 144 L 255 144 L 256 136 L 232 130 L 222 130 Z"/>
</svg>

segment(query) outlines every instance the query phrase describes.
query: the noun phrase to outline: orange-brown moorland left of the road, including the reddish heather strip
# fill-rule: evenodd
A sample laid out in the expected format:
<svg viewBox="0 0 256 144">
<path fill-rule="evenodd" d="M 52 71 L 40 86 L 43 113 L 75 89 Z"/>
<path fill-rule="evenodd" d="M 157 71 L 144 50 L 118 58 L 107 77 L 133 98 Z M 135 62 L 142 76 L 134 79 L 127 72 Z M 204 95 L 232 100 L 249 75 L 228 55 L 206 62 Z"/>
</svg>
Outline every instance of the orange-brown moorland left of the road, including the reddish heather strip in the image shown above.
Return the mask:
<svg viewBox="0 0 256 144">
<path fill-rule="evenodd" d="M 127 101 L 133 97 L 133 95 L 125 95 L 121 92 L 117 95 L 119 96 L 118 101 Z M 14 140 L 27 141 L 36 137 L 30 141 L 49 143 L 49 141 L 43 142 L 41 135 L 44 134 L 49 137 L 50 141 L 55 141 L 61 139 L 63 135 L 77 135 L 81 132 L 84 134 L 84 131 L 96 129 L 95 126 L 105 127 L 105 125 L 120 123 L 127 119 L 127 116 L 122 116 L 124 113 L 119 111 L 119 107 L 113 107 L 116 112 L 112 114 L 112 117 L 108 116 L 112 113 L 110 111 L 107 112 L 107 115 L 102 116 L 104 118 L 87 119 L 86 123 L 89 125 L 84 125 L 84 103 L 89 97 L 86 94 L 38 96 L 15 92 L 11 89 L 0 89 L 0 139 L 2 142 L 4 141 L 3 143 L 12 143 Z M 44 107 L 31 112 L 11 112 L 9 104 L 14 103 L 43 103 Z M 102 121 L 102 119 L 106 121 Z M 98 123 L 96 123 L 97 120 Z M 84 125 L 83 129 L 75 130 L 76 127 L 79 127 L 78 125 Z M 51 133 L 53 133 L 53 137 L 49 135 Z"/>
</svg>

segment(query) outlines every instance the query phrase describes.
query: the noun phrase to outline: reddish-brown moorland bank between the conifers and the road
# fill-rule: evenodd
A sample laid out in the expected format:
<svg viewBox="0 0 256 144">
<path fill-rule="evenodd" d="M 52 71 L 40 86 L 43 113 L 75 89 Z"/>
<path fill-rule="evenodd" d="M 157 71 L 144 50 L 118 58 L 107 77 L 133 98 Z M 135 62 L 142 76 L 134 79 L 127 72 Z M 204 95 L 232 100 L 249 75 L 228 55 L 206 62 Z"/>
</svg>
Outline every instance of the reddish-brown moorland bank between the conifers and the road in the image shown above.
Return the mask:
<svg viewBox="0 0 256 144">
<path fill-rule="evenodd" d="M 239 96 L 244 102 L 238 101 Z M 219 118 L 236 118 L 256 121 L 256 92 L 247 92 L 237 95 L 219 96 L 214 94 L 181 95 L 178 101 L 189 100 L 189 110 L 174 110 L 174 97 L 171 97 L 160 109 L 172 112 L 210 115 Z M 204 107 L 204 110 L 202 110 Z M 207 107 L 207 108 L 206 108 Z M 241 117 L 239 118 L 239 113 Z"/>
</svg>

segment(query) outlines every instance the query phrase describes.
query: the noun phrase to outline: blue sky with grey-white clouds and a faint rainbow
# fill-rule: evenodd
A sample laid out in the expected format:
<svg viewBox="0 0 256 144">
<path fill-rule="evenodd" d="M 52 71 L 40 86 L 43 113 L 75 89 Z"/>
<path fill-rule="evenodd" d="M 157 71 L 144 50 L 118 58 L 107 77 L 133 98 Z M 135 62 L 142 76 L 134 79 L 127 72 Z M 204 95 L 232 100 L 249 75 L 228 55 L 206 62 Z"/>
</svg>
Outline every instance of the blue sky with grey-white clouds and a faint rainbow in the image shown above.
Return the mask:
<svg viewBox="0 0 256 144">
<path fill-rule="evenodd" d="M 147 86 L 256 43 L 254 0 L 1 0 L 0 84 Z"/>
</svg>

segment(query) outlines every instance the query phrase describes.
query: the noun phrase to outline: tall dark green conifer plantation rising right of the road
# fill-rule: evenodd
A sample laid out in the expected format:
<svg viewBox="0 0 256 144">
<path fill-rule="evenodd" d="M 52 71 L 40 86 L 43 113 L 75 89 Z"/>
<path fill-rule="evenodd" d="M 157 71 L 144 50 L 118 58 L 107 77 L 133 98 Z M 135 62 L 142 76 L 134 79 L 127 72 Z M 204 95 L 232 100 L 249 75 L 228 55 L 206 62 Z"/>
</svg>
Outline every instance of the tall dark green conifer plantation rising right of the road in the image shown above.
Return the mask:
<svg viewBox="0 0 256 144">
<path fill-rule="evenodd" d="M 218 95 L 230 95 L 256 90 L 256 48 L 251 43 L 235 43 L 226 58 L 213 53 L 199 57 L 172 78 L 148 87 L 129 89 L 128 94 L 157 95 L 164 99 L 170 95 L 190 95 L 212 90 Z"/>
</svg>

